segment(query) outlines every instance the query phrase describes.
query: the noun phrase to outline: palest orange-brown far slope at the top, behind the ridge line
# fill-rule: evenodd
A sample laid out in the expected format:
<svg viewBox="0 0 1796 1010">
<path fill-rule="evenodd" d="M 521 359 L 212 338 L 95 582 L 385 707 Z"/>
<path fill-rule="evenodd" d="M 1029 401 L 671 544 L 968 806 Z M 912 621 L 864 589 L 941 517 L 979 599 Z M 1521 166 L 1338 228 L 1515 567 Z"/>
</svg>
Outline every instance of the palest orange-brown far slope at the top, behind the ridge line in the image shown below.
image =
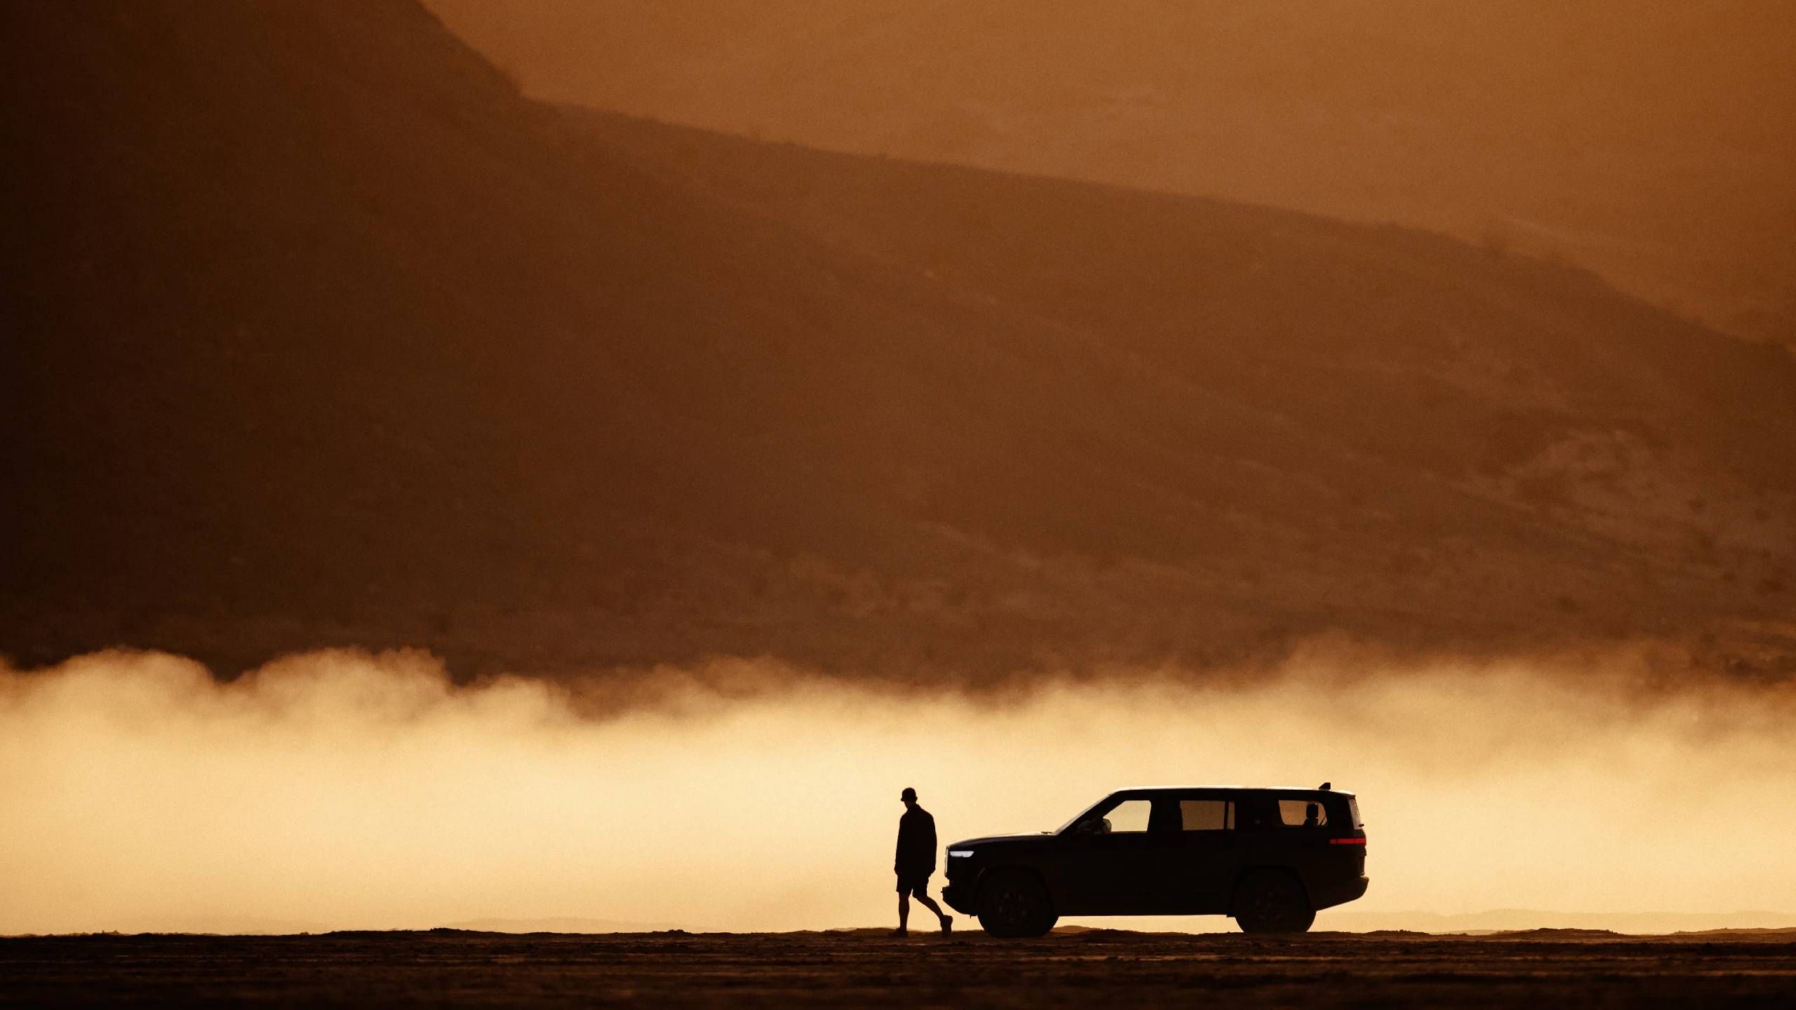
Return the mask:
<svg viewBox="0 0 1796 1010">
<path fill-rule="evenodd" d="M 1796 340 L 1756 0 L 429 0 L 557 101 L 1446 230 Z"/>
</svg>

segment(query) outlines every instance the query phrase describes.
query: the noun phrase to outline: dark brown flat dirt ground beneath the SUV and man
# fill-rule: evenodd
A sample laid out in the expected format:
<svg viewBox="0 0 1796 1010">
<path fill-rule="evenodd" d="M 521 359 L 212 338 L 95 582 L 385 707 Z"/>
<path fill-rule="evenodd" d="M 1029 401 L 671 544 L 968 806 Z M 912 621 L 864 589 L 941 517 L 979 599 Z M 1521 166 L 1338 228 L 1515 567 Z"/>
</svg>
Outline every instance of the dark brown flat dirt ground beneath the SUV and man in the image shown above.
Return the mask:
<svg viewBox="0 0 1796 1010">
<path fill-rule="evenodd" d="M 1796 936 L 1302 938 L 1108 929 L 0 938 L 0 1005 L 1670 1005 L 1796 1003 Z"/>
</svg>

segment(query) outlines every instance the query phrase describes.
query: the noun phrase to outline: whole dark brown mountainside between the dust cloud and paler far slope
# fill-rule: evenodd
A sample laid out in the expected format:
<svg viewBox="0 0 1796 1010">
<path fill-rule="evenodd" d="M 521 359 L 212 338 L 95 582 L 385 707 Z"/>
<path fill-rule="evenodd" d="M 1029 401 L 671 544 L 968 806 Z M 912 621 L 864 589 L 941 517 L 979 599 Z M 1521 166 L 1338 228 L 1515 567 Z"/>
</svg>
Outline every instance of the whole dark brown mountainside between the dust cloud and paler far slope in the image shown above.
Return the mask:
<svg viewBox="0 0 1796 1010">
<path fill-rule="evenodd" d="M 594 128 L 411 4 L 0 11 L 27 658 L 1000 670 L 1778 613 L 1787 356 L 1579 275 Z M 1516 491 L 1582 431 L 1737 482 L 1708 554 Z"/>
</svg>

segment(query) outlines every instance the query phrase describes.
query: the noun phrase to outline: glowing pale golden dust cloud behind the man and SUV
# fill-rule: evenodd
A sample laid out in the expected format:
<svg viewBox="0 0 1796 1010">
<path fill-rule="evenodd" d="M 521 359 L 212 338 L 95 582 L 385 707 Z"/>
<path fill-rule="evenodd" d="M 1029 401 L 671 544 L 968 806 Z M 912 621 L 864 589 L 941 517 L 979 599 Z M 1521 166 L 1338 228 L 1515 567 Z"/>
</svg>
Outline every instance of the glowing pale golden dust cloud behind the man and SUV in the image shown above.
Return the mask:
<svg viewBox="0 0 1796 1010">
<path fill-rule="evenodd" d="M 93 654 L 0 670 L 0 933 L 884 924 L 903 785 L 948 843 L 1119 785 L 1333 780 L 1370 836 L 1356 911 L 1796 909 L 1791 685 L 1572 665 L 1343 674 L 1322 651 L 995 701 L 720 661 L 620 704 L 614 678 L 456 687 L 411 652 L 223 685 Z"/>
</svg>

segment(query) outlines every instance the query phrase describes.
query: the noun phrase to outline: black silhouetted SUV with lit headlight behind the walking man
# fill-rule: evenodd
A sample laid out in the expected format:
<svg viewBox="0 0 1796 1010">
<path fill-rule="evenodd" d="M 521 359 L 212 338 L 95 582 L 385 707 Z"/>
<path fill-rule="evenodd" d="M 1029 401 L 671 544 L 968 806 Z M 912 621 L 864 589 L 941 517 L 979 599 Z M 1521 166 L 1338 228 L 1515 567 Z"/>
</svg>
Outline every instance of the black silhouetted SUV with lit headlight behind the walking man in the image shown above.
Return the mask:
<svg viewBox="0 0 1796 1010">
<path fill-rule="evenodd" d="M 948 846 L 941 897 L 986 933 L 1040 936 L 1061 915 L 1230 915 L 1246 933 L 1302 933 L 1365 893 L 1352 793 L 1122 789 L 1060 830 Z"/>
</svg>

